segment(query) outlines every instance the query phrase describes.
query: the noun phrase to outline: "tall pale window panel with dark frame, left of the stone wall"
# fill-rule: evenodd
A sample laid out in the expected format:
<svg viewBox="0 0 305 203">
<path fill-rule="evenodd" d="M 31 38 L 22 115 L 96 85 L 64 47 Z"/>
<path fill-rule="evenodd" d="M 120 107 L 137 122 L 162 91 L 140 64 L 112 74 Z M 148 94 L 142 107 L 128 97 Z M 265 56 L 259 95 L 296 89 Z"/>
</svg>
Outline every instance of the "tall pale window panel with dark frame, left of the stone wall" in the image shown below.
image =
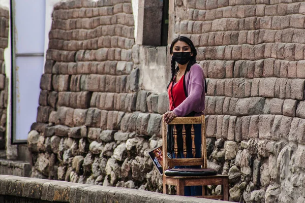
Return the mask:
<svg viewBox="0 0 305 203">
<path fill-rule="evenodd" d="M 36 122 L 44 65 L 45 0 L 11 1 L 12 143 L 25 143 Z"/>
</svg>

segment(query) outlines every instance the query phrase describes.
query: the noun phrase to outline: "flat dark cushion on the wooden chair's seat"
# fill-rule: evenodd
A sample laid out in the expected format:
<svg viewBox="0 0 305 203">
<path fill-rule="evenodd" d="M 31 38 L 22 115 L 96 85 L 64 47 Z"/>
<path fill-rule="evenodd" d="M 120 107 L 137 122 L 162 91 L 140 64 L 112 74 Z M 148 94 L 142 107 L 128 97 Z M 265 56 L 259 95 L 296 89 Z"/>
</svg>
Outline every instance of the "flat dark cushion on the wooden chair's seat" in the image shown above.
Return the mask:
<svg viewBox="0 0 305 203">
<path fill-rule="evenodd" d="M 215 176 L 217 171 L 210 168 L 172 168 L 164 172 L 166 176 Z"/>
</svg>

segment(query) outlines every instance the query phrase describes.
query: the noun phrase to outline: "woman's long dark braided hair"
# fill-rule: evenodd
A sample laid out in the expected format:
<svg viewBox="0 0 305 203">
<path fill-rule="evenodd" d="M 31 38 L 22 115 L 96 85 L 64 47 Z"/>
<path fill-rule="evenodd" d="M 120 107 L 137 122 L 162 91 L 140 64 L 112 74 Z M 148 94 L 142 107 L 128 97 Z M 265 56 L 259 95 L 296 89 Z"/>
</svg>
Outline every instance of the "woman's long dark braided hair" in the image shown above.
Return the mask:
<svg viewBox="0 0 305 203">
<path fill-rule="evenodd" d="M 190 40 L 187 37 L 180 36 L 180 37 L 174 39 L 173 42 L 171 43 L 170 49 L 169 49 L 170 54 L 173 53 L 173 47 L 176 44 L 176 42 L 178 42 L 178 41 L 185 42 L 185 43 L 187 43 L 191 47 L 191 53 L 193 54 L 193 56 L 191 56 L 191 59 L 190 59 L 190 61 L 188 63 L 187 70 L 186 70 L 186 71 L 190 71 L 191 66 L 196 63 L 196 56 L 197 56 L 196 48 L 195 48 L 192 40 Z M 171 73 L 172 73 L 172 77 L 171 77 L 171 80 L 170 80 L 169 83 L 171 83 L 174 80 L 174 77 L 175 77 L 175 75 L 176 75 L 176 73 L 178 71 L 178 67 L 176 67 L 175 64 L 176 64 L 176 61 L 174 60 L 174 57 L 172 57 L 172 60 L 171 60 Z"/>
</svg>

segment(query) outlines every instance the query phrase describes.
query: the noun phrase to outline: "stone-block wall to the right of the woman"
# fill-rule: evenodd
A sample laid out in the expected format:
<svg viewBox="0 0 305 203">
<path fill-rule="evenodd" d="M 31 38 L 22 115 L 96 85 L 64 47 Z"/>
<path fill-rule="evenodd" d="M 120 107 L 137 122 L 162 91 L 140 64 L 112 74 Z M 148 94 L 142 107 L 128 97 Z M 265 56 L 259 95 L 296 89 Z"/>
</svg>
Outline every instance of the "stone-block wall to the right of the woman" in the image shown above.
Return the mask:
<svg viewBox="0 0 305 203">
<path fill-rule="evenodd" d="M 292 3 L 295 2 L 295 3 Z M 245 202 L 303 202 L 305 3 L 176 1 L 207 79 L 208 167 Z"/>
</svg>

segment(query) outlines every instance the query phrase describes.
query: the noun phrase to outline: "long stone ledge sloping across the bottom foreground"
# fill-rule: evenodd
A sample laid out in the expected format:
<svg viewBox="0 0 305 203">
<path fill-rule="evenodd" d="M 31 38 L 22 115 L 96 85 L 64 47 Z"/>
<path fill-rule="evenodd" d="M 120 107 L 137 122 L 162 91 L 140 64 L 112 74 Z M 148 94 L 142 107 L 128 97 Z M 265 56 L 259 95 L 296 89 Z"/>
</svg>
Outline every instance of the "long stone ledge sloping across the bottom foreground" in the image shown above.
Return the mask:
<svg viewBox="0 0 305 203">
<path fill-rule="evenodd" d="M 0 175 L 0 199 L 5 195 L 60 202 L 217 203 L 227 202 L 196 197 L 166 195 L 142 190 L 104 187 L 37 178 Z"/>
</svg>

